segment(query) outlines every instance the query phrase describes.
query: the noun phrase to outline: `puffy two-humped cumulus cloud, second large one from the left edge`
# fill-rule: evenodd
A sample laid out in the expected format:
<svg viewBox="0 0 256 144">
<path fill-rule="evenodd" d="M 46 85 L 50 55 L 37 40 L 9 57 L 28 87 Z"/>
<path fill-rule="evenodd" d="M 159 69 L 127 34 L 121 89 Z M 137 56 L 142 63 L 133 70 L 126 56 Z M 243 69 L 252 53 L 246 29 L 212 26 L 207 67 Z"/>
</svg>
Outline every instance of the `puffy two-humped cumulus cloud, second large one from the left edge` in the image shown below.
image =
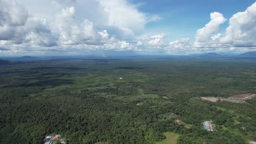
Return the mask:
<svg viewBox="0 0 256 144">
<path fill-rule="evenodd" d="M 56 14 L 56 28 L 59 30 L 60 45 L 93 44 L 100 39 L 93 23 L 87 19 L 79 23 L 75 19 L 74 7 L 63 7 L 60 13 Z"/>
</svg>

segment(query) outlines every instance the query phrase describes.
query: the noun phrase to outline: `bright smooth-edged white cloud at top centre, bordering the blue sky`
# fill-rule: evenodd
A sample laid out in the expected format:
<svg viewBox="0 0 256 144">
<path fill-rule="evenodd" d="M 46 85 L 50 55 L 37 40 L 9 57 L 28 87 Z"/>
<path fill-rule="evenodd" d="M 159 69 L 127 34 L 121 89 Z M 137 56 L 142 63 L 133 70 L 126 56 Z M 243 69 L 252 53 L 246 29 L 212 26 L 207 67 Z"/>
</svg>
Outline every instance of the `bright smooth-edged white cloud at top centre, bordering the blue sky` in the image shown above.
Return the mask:
<svg viewBox="0 0 256 144">
<path fill-rule="evenodd" d="M 140 12 L 128 0 L 98 0 L 98 2 L 105 13 L 107 25 L 121 29 L 125 35 L 133 35 L 143 30 L 148 22 L 161 20 L 158 15 L 151 16 Z"/>
</svg>

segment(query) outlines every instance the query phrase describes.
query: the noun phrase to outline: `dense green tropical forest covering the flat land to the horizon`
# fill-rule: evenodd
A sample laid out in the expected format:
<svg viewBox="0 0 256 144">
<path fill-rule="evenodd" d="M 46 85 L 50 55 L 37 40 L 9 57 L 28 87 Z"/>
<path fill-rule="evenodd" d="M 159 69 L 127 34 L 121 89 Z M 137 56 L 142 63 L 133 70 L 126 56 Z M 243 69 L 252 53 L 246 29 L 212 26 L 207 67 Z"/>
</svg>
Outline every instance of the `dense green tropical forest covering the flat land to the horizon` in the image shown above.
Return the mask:
<svg viewBox="0 0 256 144">
<path fill-rule="evenodd" d="M 178 144 L 256 141 L 256 61 L 243 59 L 36 59 L 0 65 L 0 144 Z M 179 119 L 184 124 L 177 124 Z M 217 131 L 205 131 L 212 120 Z"/>
</svg>

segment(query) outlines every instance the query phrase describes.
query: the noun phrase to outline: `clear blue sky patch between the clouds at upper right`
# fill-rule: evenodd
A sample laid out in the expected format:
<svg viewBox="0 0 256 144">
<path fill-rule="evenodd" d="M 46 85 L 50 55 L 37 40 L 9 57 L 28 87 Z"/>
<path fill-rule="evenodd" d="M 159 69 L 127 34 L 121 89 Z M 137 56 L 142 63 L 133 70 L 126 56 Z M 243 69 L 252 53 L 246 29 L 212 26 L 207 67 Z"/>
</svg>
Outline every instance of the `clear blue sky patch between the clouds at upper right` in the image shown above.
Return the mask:
<svg viewBox="0 0 256 144">
<path fill-rule="evenodd" d="M 222 13 L 227 19 L 233 14 L 246 10 L 255 0 L 133 0 L 141 3 L 139 9 L 147 13 L 159 14 L 163 20 L 148 23 L 146 27 L 154 31 L 168 31 L 170 40 L 190 37 L 194 40 L 197 29 L 210 21 L 210 13 Z M 220 27 L 224 33 L 228 21 Z"/>
</svg>

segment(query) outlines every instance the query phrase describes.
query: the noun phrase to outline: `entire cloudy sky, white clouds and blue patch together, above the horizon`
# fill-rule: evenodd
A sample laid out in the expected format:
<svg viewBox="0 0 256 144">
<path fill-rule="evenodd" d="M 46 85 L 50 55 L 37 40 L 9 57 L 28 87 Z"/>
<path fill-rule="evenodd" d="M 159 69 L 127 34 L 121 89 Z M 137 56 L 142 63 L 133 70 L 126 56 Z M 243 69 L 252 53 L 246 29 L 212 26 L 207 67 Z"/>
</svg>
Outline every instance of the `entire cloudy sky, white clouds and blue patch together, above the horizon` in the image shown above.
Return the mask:
<svg viewBox="0 0 256 144">
<path fill-rule="evenodd" d="M 255 0 L 0 0 L 0 56 L 256 51 Z"/>
</svg>

